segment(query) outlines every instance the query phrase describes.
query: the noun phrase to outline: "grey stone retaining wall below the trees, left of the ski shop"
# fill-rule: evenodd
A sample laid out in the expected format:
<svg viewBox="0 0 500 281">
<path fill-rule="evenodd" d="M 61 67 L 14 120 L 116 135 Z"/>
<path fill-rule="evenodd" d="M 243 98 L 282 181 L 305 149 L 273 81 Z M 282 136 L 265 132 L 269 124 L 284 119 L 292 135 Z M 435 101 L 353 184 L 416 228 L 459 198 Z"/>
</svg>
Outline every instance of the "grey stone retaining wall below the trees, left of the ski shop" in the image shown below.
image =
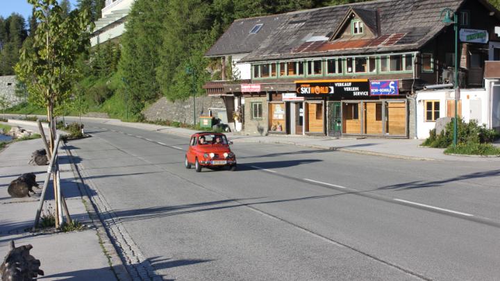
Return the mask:
<svg viewBox="0 0 500 281">
<path fill-rule="evenodd" d="M 208 116 L 209 108 L 214 109 L 213 116 L 217 117 L 217 109 L 226 109 L 224 100 L 217 96 L 198 96 L 196 98 L 196 118 L 199 122 L 200 116 Z M 184 124 L 193 123 L 193 101 L 192 98 L 185 101 L 169 101 L 163 97 L 153 103 L 149 108 L 142 111 L 148 121 L 169 120 Z"/>
</svg>

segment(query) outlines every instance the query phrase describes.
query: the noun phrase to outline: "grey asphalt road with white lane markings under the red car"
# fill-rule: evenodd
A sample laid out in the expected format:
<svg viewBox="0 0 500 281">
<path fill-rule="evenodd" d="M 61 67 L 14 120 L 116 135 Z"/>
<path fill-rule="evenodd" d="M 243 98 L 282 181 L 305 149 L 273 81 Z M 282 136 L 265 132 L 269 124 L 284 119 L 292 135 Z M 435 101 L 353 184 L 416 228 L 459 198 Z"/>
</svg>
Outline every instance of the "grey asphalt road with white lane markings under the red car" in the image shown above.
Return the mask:
<svg viewBox="0 0 500 281">
<path fill-rule="evenodd" d="M 144 280 L 500 280 L 491 163 L 236 143 L 238 171 L 196 173 L 187 137 L 85 124 L 70 148 Z"/>
</svg>

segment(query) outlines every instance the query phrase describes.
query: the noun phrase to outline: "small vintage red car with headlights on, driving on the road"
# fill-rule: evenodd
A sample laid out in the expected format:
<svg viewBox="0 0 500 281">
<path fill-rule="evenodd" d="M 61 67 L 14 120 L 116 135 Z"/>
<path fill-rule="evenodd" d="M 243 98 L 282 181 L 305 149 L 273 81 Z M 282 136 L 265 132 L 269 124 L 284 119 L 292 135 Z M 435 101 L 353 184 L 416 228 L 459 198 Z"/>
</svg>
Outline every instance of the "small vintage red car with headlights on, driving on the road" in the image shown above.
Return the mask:
<svg viewBox="0 0 500 281">
<path fill-rule="evenodd" d="M 186 169 L 191 169 L 191 165 L 194 165 L 197 172 L 201 171 L 201 167 L 229 167 L 231 171 L 235 171 L 236 155 L 229 144 L 232 143 L 222 133 L 201 132 L 192 135 L 184 160 Z"/>
</svg>

